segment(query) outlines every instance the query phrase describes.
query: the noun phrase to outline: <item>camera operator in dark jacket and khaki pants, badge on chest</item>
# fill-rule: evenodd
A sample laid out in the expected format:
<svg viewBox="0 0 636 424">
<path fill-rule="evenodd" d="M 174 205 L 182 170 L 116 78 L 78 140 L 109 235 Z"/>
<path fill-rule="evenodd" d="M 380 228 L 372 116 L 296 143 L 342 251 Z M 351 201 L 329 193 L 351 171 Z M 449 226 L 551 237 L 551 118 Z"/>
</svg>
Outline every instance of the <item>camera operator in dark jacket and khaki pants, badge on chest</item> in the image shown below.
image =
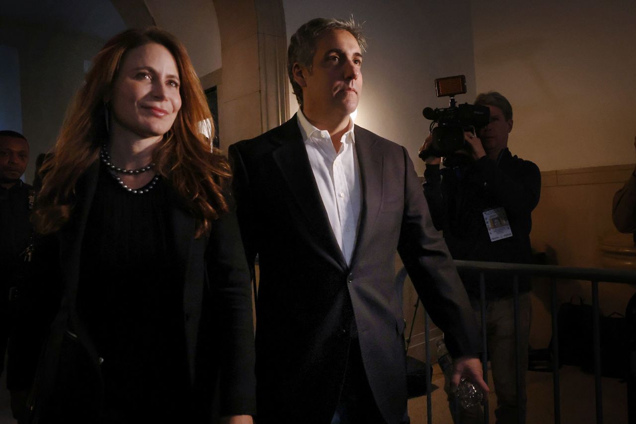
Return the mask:
<svg viewBox="0 0 636 424">
<path fill-rule="evenodd" d="M 512 107 L 498 92 L 480 94 L 475 104 L 487 106 L 490 123 L 466 132 L 466 148 L 444 160 L 427 157 L 424 195 L 435 227 L 443 230 L 454 259 L 488 262 L 529 263 L 530 213 L 539 202 L 541 174 L 532 162 L 513 156 L 508 150 L 508 134 L 513 129 Z M 429 148 L 428 136 L 420 149 Z M 474 313 L 480 317 L 480 286 L 476 273 L 463 272 L 462 281 Z M 492 366 L 497 423 L 516 423 L 517 409 L 525 422 L 525 371 L 528 365 L 530 331 L 530 281 L 520 278 L 522 403 L 517 404 L 515 372 L 515 321 L 513 285 L 510 276 L 486 275 L 486 320 L 488 358 Z M 450 398 L 449 398 L 450 399 Z M 483 413 L 453 410 L 453 420 L 480 423 Z"/>
</svg>

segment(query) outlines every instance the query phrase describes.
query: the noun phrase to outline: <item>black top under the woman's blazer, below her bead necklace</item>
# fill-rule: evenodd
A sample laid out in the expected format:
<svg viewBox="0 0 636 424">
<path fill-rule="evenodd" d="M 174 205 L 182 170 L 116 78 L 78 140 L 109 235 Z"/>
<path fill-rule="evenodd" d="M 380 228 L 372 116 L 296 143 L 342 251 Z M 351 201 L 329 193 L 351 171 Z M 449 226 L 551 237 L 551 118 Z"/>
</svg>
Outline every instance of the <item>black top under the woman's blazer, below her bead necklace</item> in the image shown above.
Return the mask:
<svg viewBox="0 0 636 424">
<path fill-rule="evenodd" d="M 78 311 L 103 358 L 107 422 L 187 410 L 183 281 L 167 185 L 127 192 L 102 167 L 83 239 Z"/>
</svg>

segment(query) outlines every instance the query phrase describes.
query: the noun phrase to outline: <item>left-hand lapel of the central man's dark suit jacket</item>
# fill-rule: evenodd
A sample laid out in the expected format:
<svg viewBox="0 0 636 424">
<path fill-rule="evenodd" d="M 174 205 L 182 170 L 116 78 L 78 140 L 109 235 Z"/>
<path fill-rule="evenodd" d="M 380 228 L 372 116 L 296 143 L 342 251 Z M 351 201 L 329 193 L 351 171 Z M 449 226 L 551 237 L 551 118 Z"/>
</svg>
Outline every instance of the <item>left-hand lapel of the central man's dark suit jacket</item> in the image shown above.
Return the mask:
<svg viewBox="0 0 636 424">
<path fill-rule="evenodd" d="M 282 138 L 276 140 L 281 145 L 273 152 L 273 160 L 303 211 L 307 219 L 307 227 L 312 229 L 309 236 L 328 251 L 329 255 L 335 258 L 340 266 L 346 269 L 347 263 L 342 251 L 340 251 L 322 203 L 307 156 L 307 149 L 298 128 L 296 115 L 287 121 L 281 129 Z M 301 225 L 301 227 L 305 227 L 305 225 Z"/>
</svg>

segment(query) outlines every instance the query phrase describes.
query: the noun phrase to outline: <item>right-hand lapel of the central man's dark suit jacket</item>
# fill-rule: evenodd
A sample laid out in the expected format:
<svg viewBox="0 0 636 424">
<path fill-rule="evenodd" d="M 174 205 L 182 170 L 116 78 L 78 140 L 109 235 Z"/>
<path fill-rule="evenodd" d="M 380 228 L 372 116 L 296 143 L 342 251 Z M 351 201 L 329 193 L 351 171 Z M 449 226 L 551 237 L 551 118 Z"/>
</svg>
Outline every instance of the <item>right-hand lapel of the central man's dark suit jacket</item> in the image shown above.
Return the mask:
<svg viewBox="0 0 636 424">
<path fill-rule="evenodd" d="M 361 131 L 359 127 L 355 127 L 354 134 L 356 134 L 356 155 L 362 189 L 362 208 L 356 235 L 356 248 L 351 258 L 352 264 L 362 254 L 367 243 L 368 232 L 375 226 L 382 204 L 382 172 L 384 171 L 384 157 L 374 151 L 375 139 L 370 136 L 370 132 Z"/>
</svg>

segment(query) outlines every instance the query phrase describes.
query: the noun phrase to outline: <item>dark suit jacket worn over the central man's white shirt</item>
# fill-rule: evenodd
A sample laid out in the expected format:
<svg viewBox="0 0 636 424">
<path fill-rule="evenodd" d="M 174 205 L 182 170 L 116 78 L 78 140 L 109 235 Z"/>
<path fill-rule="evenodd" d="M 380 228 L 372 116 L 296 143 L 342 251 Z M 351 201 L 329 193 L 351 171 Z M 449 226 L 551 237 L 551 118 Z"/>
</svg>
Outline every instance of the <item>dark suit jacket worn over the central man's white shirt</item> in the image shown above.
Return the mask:
<svg viewBox="0 0 636 424">
<path fill-rule="evenodd" d="M 432 226 L 408 153 L 361 127 L 354 132 L 363 203 L 350 265 L 329 225 L 296 117 L 230 146 L 248 262 L 259 255 L 256 379 L 265 422 L 329 423 L 351 337 L 359 339 L 384 418 L 401 421 L 406 378 L 396 250 L 448 334 L 451 353 L 478 351 L 466 291 Z"/>
</svg>

